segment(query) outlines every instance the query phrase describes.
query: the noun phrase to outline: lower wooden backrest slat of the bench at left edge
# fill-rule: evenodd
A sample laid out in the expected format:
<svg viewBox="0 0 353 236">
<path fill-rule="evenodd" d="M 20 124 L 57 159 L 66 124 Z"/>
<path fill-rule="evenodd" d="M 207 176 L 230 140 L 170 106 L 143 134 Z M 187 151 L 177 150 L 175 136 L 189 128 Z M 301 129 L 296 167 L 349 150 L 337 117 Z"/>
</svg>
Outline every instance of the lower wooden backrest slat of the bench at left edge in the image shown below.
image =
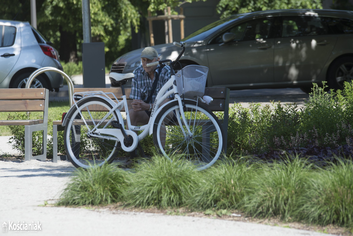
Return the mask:
<svg viewBox="0 0 353 236">
<path fill-rule="evenodd" d="M 44 111 L 44 100 L 3 100 L 0 102 L 0 112 Z"/>
</svg>

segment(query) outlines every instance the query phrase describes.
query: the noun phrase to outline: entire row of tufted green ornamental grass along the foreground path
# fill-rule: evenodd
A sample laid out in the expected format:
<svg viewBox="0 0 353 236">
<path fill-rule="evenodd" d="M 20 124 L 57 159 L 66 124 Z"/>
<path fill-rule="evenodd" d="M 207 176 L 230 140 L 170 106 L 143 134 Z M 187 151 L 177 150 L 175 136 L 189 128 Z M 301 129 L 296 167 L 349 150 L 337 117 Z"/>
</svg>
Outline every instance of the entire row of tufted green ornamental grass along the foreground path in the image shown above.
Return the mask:
<svg viewBox="0 0 353 236">
<path fill-rule="evenodd" d="M 353 229 L 353 163 L 336 159 L 325 169 L 288 156 L 274 163 L 227 159 L 205 171 L 164 157 L 144 160 L 136 172 L 113 165 L 79 169 L 58 205 L 106 205 L 203 210 L 210 216 L 243 212 Z"/>
</svg>

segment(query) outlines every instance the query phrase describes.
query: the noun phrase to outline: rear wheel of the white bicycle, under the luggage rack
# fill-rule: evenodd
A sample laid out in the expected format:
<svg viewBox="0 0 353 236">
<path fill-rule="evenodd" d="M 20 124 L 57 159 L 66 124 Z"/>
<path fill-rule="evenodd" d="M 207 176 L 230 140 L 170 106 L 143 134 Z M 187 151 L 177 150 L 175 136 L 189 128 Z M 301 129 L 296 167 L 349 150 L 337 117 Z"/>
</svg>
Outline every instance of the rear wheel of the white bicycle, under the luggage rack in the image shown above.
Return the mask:
<svg viewBox="0 0 353 236">
<path fill-rule="evenodd" d="M 112 110 L 112 105 L 102 98 L 92 97 L 78 101 L 77 107 L 68 118 L 64 131 L 67 158 L 74 166 L 85 169 L 111 163 L 121 147 L 120 142 L 111 140 L 109 135 L 93 137 L 89 132 Z M 119 120 L 115 111 L 97 128 L 113 128 L 112 120 Z"/>
</svg>

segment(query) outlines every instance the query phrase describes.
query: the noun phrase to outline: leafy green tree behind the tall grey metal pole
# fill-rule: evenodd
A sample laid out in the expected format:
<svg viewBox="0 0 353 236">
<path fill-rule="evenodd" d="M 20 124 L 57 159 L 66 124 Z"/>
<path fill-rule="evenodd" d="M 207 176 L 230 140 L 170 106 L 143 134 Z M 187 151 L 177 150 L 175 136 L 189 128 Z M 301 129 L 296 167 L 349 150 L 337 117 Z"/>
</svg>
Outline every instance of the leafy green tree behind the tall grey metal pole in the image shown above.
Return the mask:
<svg viewBox="0 0 353 236">
<path fill-rule="evenodd" d="M 104 42 L 105 51 L 119 52 L 137 30 L 139 14 L 128 0 L 90 0 L 92 42 Z M 83 42 L 82 1 L 46 0 L 38 14 L 38 25 L 58 46 L 60 59 L 77 61 Z"/>
</svg>

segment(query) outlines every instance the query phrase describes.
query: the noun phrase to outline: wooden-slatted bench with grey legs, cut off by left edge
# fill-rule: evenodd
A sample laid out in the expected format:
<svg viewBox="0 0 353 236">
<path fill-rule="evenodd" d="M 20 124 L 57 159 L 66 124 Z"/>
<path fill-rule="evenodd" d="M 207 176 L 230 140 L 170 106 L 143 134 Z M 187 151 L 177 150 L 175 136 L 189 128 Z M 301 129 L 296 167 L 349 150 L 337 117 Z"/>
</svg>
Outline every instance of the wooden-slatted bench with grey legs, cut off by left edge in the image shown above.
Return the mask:
<svg viewBox="0 0 353 236">
<path fill-rule="evenodd" d="M 25 161 L 46 160 L 48 134 L 48 89 L 0 89 L 0 112 L 43 112 L 42 119 L 0 120 L 0 125 L 24 125 Z M 43 131 L 42 154 L 32 155 L 32 133 Z"/>
</svg>

